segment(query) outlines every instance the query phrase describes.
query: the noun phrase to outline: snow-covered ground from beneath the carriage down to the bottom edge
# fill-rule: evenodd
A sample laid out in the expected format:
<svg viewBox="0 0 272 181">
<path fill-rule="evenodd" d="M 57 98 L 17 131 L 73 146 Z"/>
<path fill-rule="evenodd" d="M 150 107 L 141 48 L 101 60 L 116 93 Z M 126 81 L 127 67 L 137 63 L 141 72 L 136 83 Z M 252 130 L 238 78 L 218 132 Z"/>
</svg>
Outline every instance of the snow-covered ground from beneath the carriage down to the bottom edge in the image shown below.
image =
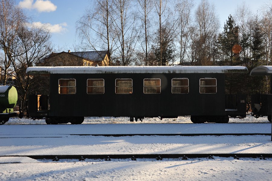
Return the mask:
<svg viewBox="0 0 272 181">
<path fill-rule="evenodd" d="M 129 118 L 85 118 L 81 125 L 2 125 L 0 155 L 63 154 L 193 154 L 272 153 L 271 136 L 123 136 L 70 135 L 105 131 L 111 127 L 141 131 L 143 126 L 177 132 L 271 133 L 267 118 L 230 119 L 230 123 L 251 124 L 148 124 Z M 103 123 L 103 124 L 98 124 Z M 119 123 L 119 124 L 117 124 Z M 120 124 L 122 123 L 122 124 Z M 125 124 L 128 123 L 128 124 Z M 191 123 L 190 118 L 149 118 L 143 123 Z M 267 123 L 267 124 L 252 124 Z M 44 120 L 11 118 L 6 124 L 45 124 Z M 89 125 L 86 125 L 89 124 Z M 93 125 L 90 125 L 93 124 Z M 100 128 L 99 128 L 100 126 Z M 141 128 L 142 126 L 142 128 Z M 171 126 L 173 128 L 171 129 Z M 92 128 L 93 127 L 93 128 Z M 104 128 L 104 129 L 102 129 Z M 108 129 L 109 130 L 109 129 Z M 112 131 L 111 130 L 111 131 Z M 122 129 L 121 129 L 122 130 Z M 89 132 L 88 132 L 89 131 Z M 117 130 L 118 131 L 118 130 Z M 120 130 L 119 130 L 120 131 Z M 186 132 L 187 131 L 187 132 Z M 110 132 L 110 131 L 108 131 Z M 2 164 L 1 164 L 2 163 Z M 271 180 L 272 159 L 214 157 L 155 159 L 51 159 L 0 157 L 0 180 Z"/>
</svg>

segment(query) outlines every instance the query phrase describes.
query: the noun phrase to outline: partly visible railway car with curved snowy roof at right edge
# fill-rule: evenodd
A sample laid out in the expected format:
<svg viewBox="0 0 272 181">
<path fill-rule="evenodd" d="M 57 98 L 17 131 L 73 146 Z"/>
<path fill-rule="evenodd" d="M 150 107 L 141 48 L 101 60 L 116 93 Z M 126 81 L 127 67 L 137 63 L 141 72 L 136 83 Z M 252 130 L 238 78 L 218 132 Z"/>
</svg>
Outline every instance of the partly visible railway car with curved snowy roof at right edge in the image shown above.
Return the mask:
<svg viewBox="0 0 272 181">
<path fill-rule="evenodd" d="M 256 118 L 267 116 L 268 121 L 272 119 L 272 66 L 258 66 L 251 70 L 251 76 L 270 76 L 270 94 L 251 95 L 252 116 Z"/>
</svg>

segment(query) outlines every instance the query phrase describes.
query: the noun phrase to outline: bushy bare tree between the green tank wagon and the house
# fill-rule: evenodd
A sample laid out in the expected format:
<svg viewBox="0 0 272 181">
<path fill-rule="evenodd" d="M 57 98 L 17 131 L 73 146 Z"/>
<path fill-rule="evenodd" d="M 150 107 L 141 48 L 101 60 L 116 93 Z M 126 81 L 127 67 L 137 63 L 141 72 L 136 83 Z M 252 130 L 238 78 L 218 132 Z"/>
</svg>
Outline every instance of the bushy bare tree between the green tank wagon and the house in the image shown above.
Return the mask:
<svg viewBox="0 0 272 181">
<path fill-rule="evenodd" d="M 16 84 L 18 97 L 21 98 L 23 111 L 26 109 L 26 100 L 28 94 L 45 89 L 44 85 L 40 86 L 40 79 L 33 79 L 26 74 L 26 68 L 35 66 L 38 60 L 41 60 L 52 51 L 50 42 L 50 33 L 46 27 L 35 27 L 34 25 L 24 24 L 17 31 L 17 45 L 15 54 L 18 56 L 12 60 L 11 64 L 16 73 Z"/>
</svg>

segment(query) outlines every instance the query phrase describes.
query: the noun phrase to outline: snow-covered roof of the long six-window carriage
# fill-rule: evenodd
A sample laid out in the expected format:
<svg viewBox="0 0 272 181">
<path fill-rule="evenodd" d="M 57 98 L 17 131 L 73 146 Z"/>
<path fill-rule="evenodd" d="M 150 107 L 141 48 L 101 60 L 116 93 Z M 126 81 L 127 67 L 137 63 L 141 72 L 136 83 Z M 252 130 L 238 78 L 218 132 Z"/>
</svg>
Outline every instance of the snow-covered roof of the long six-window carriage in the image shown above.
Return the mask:
<svg viewBox="0 0 272 181">
<path fill-rule="evenodd" d="M 43 66 L 28 67 L 26 73 L 248 73 L 248 69 L 244 66 Z"/>
</svg>

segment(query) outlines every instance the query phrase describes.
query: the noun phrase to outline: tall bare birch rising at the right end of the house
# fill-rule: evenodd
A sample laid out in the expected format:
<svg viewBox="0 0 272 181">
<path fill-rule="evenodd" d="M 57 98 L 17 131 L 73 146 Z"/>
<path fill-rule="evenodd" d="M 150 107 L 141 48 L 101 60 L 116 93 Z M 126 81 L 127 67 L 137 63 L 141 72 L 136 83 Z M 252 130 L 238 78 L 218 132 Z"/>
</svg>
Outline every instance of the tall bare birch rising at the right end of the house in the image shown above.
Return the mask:
<svg viewBox="0 0 272 181">
<path fill-rule="evenodd" d="M 76 33 L 82 40 L 83 49 L 108 50 L 109 66 L 112 65 L 111 55 L 115 46 L 112 33 L 112 3 L 112 0 L 96 0 L 76 22 Z"/>
</svg>

